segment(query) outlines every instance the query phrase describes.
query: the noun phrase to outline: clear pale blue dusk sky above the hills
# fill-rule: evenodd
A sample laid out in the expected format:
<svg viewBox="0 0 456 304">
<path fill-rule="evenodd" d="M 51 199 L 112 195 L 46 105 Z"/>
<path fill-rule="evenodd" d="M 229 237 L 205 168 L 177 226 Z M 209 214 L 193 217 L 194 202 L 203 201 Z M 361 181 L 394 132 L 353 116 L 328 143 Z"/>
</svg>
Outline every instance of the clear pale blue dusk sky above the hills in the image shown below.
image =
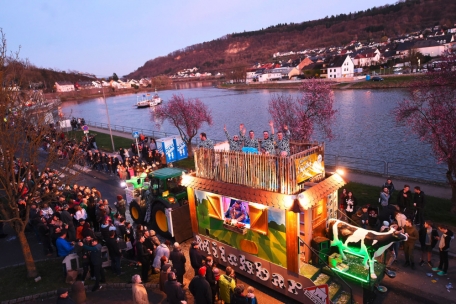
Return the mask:
<svg viewBox="0 0 456 304">
<path fill-rule="evenodd" d="M 125 75 L 147 60 L 233 32 L 392 4 L 392 0 L 5 0 L 8 49 L 38 67 Z"/>
</svg>

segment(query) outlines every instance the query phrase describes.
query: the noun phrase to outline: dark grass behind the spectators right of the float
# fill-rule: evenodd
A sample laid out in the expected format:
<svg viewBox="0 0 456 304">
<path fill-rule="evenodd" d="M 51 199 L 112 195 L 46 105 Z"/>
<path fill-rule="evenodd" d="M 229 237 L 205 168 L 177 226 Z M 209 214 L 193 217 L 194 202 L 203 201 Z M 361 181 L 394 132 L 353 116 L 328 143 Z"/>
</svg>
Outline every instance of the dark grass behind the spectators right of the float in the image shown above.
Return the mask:
<svg viewBox="0 0 456 304">
<path fill-rule="evenodd" d="M 345 185 L 344 188 L 346 188 L 348 191 L 353 192 L 353 195 L 358 200 L 358 206 L 366 204 L 370 204 L 372 206 L 380 206 L 378 203 L 378 198 L 380 196 L 380 187 L 349 182 L 347 185 Z M 396 190 L 393 193 L 393 204 L 396 202 L 396 195 L 399 190 Z M 339 192 L 339 195 L 340 193 L 341 191 Z M 426 196 L 426 205 L 424 207 L 424 210 L 424 218 L 430 219 L 434 223 L 442 223 L 451 226 L 454 226 L 454 223 L 456 223 L 456 215 L 450 212 L 450 200 L 433 196 Z"/>
</svg>

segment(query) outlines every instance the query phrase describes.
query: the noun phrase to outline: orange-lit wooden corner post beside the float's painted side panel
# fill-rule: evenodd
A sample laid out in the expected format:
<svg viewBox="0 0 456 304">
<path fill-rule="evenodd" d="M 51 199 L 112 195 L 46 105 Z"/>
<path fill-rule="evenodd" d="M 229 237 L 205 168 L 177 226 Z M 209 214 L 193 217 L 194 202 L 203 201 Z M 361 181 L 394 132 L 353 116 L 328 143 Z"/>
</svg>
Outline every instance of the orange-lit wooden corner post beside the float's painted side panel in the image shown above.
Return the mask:
<svg viewBox="0 0 456 304">
<path fill-rule="evenodd" d="M 299 273 L 299 214 L 293 211 L 285 211 L 287 229 L 287 269 Z"/>
</svg>

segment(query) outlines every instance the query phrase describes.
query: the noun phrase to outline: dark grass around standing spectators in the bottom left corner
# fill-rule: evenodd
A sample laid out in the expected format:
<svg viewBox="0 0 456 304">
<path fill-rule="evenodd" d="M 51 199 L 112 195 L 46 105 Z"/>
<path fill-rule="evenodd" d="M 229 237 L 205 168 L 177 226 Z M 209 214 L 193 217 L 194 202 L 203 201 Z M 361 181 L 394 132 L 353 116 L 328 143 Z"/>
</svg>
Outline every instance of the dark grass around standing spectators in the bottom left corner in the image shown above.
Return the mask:
<svg viewBox="0 0 456 304">
<path fill-rule="evenodd" d="M 40 294 L 56 290 L 60 287 L 71 288 L 70 284 L 65 283 L 62 271 L 62 260 L 51 259 L 37 262 L 36 267 L 41 276 L 41 280 L 35 282 L 34 279 L 27 278 L 25 265 L 8 267 L 1 270 L 0 278 L 0 301 L 17 299 L 29 295 Z M 122 262 L 122 271 L 125 274 L 116 276 L 109 267 L 105 268 L 106 283 L 128 283 L 134 274 L 141 274 L 141 267 L 129 266 L 127 262 Z M 159 275 L 151 276 L 151 283 L 158 283 Z M 92 286 L 95 281 L 87 279 L 86 285 Z"/>
</svg>

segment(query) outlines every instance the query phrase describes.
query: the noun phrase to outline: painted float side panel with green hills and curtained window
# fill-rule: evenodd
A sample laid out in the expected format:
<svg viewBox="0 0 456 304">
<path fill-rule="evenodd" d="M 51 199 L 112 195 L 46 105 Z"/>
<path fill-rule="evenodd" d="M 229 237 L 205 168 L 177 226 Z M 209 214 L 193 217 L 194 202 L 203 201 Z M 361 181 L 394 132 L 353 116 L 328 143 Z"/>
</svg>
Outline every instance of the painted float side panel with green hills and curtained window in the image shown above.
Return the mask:
<svg viewBox="0 0 456 304">
<path fill-rule="evenodd" d="M 284 210 L 199 190 L 195 198 L 201 235 L 287 267 Z"/>
</svg>

